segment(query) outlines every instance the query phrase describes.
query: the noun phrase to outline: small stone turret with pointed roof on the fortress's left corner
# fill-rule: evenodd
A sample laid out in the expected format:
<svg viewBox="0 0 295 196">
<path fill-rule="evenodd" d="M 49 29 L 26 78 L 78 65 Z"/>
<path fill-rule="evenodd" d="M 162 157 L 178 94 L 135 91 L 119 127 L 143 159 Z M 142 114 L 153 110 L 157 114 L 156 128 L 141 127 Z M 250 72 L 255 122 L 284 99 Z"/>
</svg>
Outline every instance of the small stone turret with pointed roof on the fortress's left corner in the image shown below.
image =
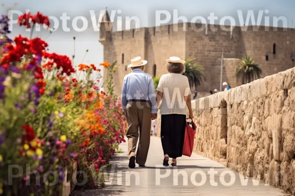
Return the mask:
<svg viewBox="0 0 295 196">
<path fill-rule="evenodd" d="M 100 22 L 100 33 L 99 33 L 99 42 L 104 45 L 107 39 L 111 39 L 111 33 L 113 29 L 113 23 L 111 22 L 108 11 L 104 13 L 102 20 Z"/>
</svg>

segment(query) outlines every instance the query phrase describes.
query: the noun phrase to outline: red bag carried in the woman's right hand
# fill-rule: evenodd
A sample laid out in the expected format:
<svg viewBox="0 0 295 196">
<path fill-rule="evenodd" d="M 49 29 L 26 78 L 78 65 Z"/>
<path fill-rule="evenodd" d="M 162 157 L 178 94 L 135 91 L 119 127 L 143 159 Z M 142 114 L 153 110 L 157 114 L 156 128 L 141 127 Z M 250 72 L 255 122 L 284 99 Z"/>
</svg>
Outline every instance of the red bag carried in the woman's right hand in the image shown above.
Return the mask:
<svg viewBox="0 0 295 196">
<path fill-rule="evenodd" d="M 193 121 L 186 123 L 182 155 L 189 157 L 192 155 L 196 130 L 197 126 Z"/>
</svg>

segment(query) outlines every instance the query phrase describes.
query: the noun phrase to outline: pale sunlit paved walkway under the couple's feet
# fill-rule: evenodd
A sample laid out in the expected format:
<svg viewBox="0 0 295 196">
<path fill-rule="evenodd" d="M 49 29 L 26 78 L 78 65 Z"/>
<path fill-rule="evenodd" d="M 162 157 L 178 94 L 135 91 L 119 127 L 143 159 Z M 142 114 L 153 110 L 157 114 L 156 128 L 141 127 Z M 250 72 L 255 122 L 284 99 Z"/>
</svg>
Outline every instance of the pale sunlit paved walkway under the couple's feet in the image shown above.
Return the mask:
<svg viewBox="0 0 295 196">
<path fill-rule="evenodd" d="M 259 183 L 252 178 L 244 178 L 237 172 L 197 154 L 191 157 L 180 157 L 177 168 L 164 168 L 160 138 L 151 138 L 145 168 L 129 169 L 127 143 L 121 144 L 120 148 L 124 153 L 117 154 L 111 162 L 113 168 L 110 168 L 110 178 L 106 187 L 75 191 L 73 195 L 286 196 L 279 189 Z"/>
</svg>

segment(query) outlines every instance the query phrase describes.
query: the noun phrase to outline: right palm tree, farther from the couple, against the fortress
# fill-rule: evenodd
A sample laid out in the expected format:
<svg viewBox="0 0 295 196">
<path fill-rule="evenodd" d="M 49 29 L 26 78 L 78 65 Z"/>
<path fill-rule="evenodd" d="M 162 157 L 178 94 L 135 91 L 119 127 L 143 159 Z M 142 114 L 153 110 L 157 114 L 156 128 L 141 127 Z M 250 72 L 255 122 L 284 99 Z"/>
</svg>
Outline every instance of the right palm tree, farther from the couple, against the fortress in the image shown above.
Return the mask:
<svg viewBox="0 0 295 196">
<path fill-rule="evenodd" d="M 250 83 L 259 79 L 261 73 L 260 66 L 250 56 L 246 55 L 236 68 L 236 80 L 240 80 L 242 84 Z"/>
</svg>

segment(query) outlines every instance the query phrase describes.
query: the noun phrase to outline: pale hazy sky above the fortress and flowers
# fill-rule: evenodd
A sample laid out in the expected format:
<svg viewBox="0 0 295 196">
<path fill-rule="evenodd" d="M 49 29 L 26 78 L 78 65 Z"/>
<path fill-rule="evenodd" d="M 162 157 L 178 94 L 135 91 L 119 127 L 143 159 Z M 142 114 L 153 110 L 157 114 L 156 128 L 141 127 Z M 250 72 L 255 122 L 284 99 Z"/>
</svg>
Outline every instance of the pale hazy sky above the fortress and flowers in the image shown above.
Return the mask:
<svg viewBox="0 0 295 196">
<path fill-rule="evenodd" d="M 124 19 L 128 17 L 137 17 L 140 21 L 140 27 L 154 26 L 156 24 L 156 12 L 164 10 L 170 12 L 173 18 L 173 10 L 177 10 L 178 17 L 184 16 L 190 21 L 195 16 L 203 16 L 207 18 L 210 13 L 214 13 L 219 20 L 224 16 L 233 17 L 238 23 L 237 10 L 241 10 L 246 18 L 248 10 L 253 10 L 258 16 L 259 10 L 268 10 L 264 12 L 264 16 L 268 17 L 285 17 L 287 26 L 293 27 L 292 20 L 295 22 L 295 0 L 0 0 L 0 13 L 6 14 L 7 10 L 16 10 L 23 13 L 29 9 L 32 14 L 40 11 L 44 15 L 54 16 L 58 19 L 63 13 L 70 17 L 67 26 L 71 27 L 70 32 L 64 32 L 62 29 L 62 21 L 59 20 L 59 28 L 53 33 L 45 30 L 41 32 L 33 32 L 33 37 L 41 37 L 46 39 L 51 52 L 72 56 L 75 53 L 74 65 L 82 63 L 85 51 L 89 49 L 83 63 L 99 65 L 103 62 L 103 46 L 98 42 L 99 32 L 95 31 L 92 26 L 92 20 L 98 20 L 99 16 L 108 7 L 109 13 L 115 11 L 114 30 L 117 30 L 117 24 L 125 24 Z M 90 15 L 90 10 L 94 15 Z M 119 13 L 118 13 L 119 12 Z M 83 16 L 88 21 L 88 28 L 85 31 L 77 32 L 72 28 L 73 19 L 77 16 Z M 117 18 L 120 16 L 121 18 Z M 112 16 L 111 16 L 112 18 Z M 14 14 L 12 20 L 17 19 Z M 164 20 L 161 18 L 161 20 Z M 227 21 L 228 22 L 228 21 Z M 168 24 L 176 23 L 169 21 Z M 219 23 L 219 21 L 215 22 Z M 78 27 L 82 27 L 81 20 L 78 21 Z M 265 24 L 264 17 L 262 25 Z M 239 25 L 239 24 L 236 24 Z M 270 19 L 270 25 L 272 20 Z M 283 24 L 279 23 L 279 26 Z M 131 27 L 134 23 L 131 23 Z M 97 25 L 96 25 L 97 28 Z M 124 27 L 123 27 L 124 29 Z M 29 36 L 30 32 L 26 32 L 24 28 L 18 25 L 12 25 L 11 38 L 18 34 Z M 73 47 L 73 37 L 76 37 L 75 51 Z M 127 46 L 126 46 L 127 47 Z"/>
</svg>

